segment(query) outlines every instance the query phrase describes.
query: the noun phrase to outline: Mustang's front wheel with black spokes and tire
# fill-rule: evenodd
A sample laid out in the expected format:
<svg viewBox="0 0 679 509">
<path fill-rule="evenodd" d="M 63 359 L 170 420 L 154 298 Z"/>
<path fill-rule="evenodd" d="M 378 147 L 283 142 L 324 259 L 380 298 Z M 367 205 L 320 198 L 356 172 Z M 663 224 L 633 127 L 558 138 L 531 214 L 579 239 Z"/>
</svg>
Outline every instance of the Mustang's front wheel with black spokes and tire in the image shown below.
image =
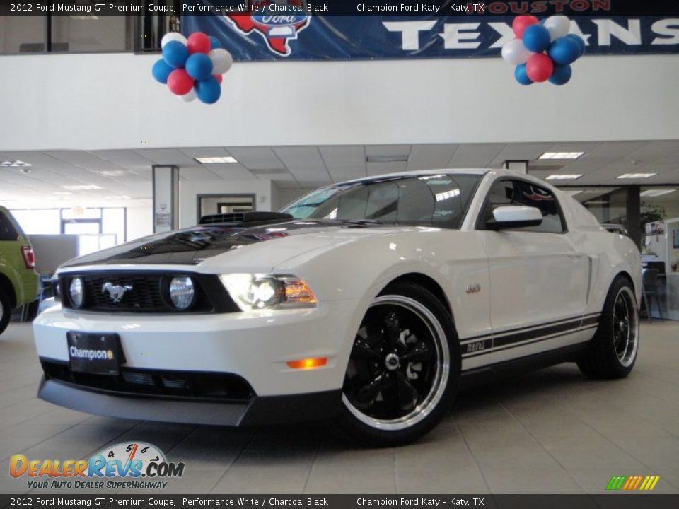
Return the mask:
<svg viewBox="0 0 679 509">
<path fill-rule="evenodd" d="M 388 286 L 356 332 L 340 428 L 364 445 L 417 440 L 450 409 L 461 362 L 453 320 L 441 302 L 421 286 Z"/>
</svg>

